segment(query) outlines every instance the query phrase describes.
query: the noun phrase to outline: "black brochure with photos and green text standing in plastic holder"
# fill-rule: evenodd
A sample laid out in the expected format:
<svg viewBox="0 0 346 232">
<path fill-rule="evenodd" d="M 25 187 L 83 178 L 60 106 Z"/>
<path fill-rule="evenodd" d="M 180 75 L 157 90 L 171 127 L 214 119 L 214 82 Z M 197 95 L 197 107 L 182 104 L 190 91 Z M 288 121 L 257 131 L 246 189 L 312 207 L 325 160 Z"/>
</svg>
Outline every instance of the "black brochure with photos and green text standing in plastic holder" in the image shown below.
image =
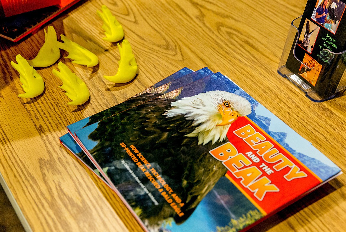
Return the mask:
<svg viewBox="0 0 346 232">
<path fill-rule="evenodd" d="M 346 49 L 345 8 L 344 0 L 308 0 L 286 62 L 322 99 L 336 92 L 346 68 L 345 59 L 330 53 Z"/>
</svg>

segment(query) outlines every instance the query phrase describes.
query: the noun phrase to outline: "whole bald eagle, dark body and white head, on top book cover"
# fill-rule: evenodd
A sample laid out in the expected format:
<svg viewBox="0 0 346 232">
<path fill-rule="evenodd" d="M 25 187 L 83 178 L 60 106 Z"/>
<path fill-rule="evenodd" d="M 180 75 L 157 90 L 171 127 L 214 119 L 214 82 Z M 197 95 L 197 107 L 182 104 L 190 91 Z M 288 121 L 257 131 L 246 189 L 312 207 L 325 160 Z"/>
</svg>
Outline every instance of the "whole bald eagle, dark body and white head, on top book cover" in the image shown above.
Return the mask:
<svg viewBox="0 0 346 232">
<path fill-rule="evenodd" d="M 169 218 L 177 224 L 189 218 L 227 172 L 222 162 L 213 158 L 209 151 L 228 141 L 226 134 L 238 117 L 252 112 L 250 102 L 235 93 L 213 90 L 180 98 L 172 92 L 157 93 L 154 99 L 153 93 L 139 95 L 132 99 L 132 102 L 136 98 L 140 101 L 136 107 L 95 125 L 91 116 L 91 125 L 84 128 L 90 130 L 86 134 L 88 140 L 94 142 L 90 154 L 102 168 L 108 167 L 107 176 L 112 184 L 148 228 L 161 226 Z M 181 90 L 176 94 L 180 95 Z M 146 97 L 150 100 L 145 101 Z M 120 143 L 128 147 L 134 145 L 150 162 L 151 168 L 183 203 L 183 216 L 166 202 Z M 138 187 L 139 181 L 158 204 L 148 197 L 143 187 Z"/>
</svg>

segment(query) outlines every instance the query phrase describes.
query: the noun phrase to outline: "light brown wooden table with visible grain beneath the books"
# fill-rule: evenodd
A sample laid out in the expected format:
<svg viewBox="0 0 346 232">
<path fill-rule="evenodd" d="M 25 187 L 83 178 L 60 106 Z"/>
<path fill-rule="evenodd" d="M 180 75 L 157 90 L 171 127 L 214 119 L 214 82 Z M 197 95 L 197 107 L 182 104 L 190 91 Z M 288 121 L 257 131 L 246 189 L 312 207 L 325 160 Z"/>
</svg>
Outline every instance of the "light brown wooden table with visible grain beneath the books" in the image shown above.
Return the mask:
<svg viewBox="0 0 346 232">
<path fill-rule="evenodd" d="M 103 41 L 96 10 L 106 3 L 124 27 L 140 73 L 127 84 L 111 84 L 119 52 Z M 87 68 L 59 61 L 81 77 L 89 104 L 68 106 L 52 74 L 57 64 L 38 69 L 46 89 L 28 100 L 18 73 L 17 54 L 33 59 L 44 31 L 18 43 L 0 39 L 0 172 L 27 231 L 142 231 L 120 199 L 58 141 L 66 125 L 118 104 L 187 66 L 208 66 L 230 77 L 339 167 L 346 167 L 346 96 L 314 103 L 277 74 L 290 22 L 306 1 L 89 0 L 55 19 L 58 33 L 98 55 Z M 341 175 L 250 231 L 344 231 L 346 177 Z M 31 228 L 31 229 L 30 229 Z"/>
</svg>

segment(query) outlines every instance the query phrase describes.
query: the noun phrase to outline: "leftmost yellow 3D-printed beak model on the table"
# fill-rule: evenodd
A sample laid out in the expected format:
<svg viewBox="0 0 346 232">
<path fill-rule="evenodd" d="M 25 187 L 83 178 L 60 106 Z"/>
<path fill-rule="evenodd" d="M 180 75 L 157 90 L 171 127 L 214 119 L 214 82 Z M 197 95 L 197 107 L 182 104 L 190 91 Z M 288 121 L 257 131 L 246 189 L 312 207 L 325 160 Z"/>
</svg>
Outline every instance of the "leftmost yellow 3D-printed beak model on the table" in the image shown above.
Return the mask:
<svg viewBox="0 0 346 232">
<path fill-rule="evenodd" d="M 43 93 L 44 81 L 41 75 L 21 55 L 16 55 L 16 61 L 18 64 L 11 61 L 11 65 L 19 72 L 19 80 L 25 91 L 25 93 L 19 94 L 18 97 L 34 98 Z"/>
</svg>

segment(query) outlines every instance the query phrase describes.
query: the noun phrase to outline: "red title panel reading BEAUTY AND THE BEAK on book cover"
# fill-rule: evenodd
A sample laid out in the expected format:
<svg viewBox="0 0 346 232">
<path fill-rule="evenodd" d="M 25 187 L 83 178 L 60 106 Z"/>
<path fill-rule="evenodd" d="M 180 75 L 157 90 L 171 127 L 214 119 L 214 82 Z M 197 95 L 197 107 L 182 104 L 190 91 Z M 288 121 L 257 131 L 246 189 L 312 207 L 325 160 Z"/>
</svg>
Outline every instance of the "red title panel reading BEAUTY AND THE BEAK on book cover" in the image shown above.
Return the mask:
<svg viewBox="0 0 346 232">
<path fill-rule="evenodd" d="M 317 186 L 322 180 L 247 117 L 227 134 L 229 143 L 210 151 L 227 176 L 264 214 Z"/>
</svg>

